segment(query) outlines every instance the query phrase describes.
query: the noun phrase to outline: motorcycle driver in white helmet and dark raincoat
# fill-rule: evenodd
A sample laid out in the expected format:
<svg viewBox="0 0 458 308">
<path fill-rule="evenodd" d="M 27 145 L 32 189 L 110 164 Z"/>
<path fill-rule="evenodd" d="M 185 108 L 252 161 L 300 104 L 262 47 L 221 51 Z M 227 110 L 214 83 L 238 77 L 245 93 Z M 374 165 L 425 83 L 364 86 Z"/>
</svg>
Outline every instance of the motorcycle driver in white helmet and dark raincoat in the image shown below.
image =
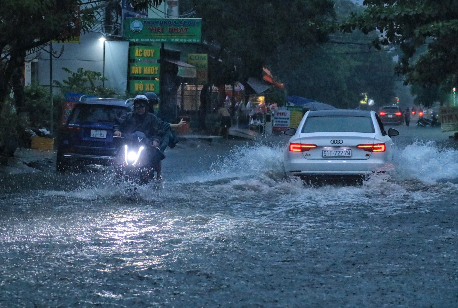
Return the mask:
<svg viewBox="0 0 458 308">
<path fill-rule="evenodd" d="M 134 111 L 128 112 L 120 119 L 118 119 L 119 124 L 113 126 L 114 136 L 122 137 L 122 134 L 125 137 L 132 135 L 136 132 L 142 132 L 145 136 L 152 141 L 152 164 L 158 165 L 158 161 L 164 159 L 164 155 L 158 153 L 156 149 L 160 145 L 160 124 L 161 122 L 158 118 L 152 113 L 147 112 L 148 99 L 145 95 L 137 95 L 134 98 L 133 102 Z M 161 172 L 158 170 L 159 181 L 161 179 Z"/>
</svg>

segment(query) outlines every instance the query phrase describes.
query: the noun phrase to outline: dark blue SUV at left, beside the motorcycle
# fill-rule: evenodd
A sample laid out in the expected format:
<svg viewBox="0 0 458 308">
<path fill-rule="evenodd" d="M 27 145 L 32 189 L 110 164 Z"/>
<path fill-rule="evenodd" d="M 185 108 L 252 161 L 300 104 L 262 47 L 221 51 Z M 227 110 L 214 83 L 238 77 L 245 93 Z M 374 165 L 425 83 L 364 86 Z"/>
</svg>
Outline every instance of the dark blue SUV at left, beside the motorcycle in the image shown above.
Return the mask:
<svg viewBox="0 0 458 308">
<path fill-rule="evenodd" d="M 110 165 L 114 159 L 113 125 L 132 110 L 132 100 L 87 98 L 76 103 L 58 132 L 56 170 L 72 166 Z"/>
</svg>

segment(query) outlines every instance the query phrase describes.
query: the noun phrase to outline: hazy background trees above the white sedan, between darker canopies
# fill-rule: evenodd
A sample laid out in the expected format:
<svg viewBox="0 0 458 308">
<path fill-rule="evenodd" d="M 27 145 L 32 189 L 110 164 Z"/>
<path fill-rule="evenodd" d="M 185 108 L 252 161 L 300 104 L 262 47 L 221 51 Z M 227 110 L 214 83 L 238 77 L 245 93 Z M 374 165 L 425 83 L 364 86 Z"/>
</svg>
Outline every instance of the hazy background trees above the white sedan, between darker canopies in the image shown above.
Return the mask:
<svg viewBox="0 0 458 308">
<path fill-rule="evenodd" d="M 362 10 L 346 0 L 335 3 L 336 22 Z M 278 58 L 275 71 L 290 95 L 315 99 L 339 108 L 355 108 L 365 95 L 376 105 L 393 101 L 393 54 L 369 49 L 371 37 L 360 31 L 330 33 L 327 43 L 292 45 Z"/>
</svg>

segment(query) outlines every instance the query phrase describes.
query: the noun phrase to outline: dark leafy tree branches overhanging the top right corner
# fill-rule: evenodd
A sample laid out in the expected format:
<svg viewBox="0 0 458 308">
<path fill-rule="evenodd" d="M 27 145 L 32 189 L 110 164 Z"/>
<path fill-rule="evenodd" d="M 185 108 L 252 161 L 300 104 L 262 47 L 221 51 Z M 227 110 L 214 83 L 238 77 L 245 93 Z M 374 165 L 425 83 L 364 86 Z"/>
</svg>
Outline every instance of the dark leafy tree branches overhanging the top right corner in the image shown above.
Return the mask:
<svg viewBox="0 0 458 308">
<path fill-rule="evenodd" d="M 372 45 L 381 49 L 394 44 L 402 51 L 396 72 L 405 74 L 404 84 L 441 84 L 453 80 L 458 71 L 457 0 L 365 0 L 367 8 L 354 13 L 341 29 L 363 33 L 378 30 Z M 424 54 L 413 59 L 427 45 Z M 397 48 L 397 47 L 396 47 Z"/>
</svg>

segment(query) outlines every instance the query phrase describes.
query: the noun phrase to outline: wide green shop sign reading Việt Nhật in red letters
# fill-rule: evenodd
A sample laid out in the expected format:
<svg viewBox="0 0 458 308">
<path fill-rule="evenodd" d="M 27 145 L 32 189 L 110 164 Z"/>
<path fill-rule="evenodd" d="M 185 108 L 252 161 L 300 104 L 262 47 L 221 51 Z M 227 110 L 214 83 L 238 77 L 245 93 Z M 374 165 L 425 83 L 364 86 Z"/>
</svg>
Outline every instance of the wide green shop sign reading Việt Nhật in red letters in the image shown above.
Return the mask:
<svg viewBox="0 0 458 308">
<path fill-rule="evenodd" d="M 126 18 L 124 36 L 130 42 L 200 43 L 200 18 Z"/>
</svg>

